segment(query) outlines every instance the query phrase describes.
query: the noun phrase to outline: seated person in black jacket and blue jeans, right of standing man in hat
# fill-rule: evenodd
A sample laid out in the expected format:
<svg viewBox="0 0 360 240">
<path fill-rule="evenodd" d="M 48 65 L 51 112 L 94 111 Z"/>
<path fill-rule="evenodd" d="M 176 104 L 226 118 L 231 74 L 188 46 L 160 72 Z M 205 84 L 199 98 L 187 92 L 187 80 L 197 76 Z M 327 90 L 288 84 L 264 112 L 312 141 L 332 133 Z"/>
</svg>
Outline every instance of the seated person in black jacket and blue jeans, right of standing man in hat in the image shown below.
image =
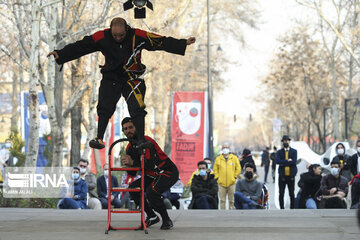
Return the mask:
<svg viewBox="0 0 360 240">
<path fill-rule="evenodd" d="M 321 166 L 312 164 L 309 171 L 301 174 L 302 188 L 300 193 L 299 208 L 317 209 L 317 197 L 320 190 Z"/>
</svg>

